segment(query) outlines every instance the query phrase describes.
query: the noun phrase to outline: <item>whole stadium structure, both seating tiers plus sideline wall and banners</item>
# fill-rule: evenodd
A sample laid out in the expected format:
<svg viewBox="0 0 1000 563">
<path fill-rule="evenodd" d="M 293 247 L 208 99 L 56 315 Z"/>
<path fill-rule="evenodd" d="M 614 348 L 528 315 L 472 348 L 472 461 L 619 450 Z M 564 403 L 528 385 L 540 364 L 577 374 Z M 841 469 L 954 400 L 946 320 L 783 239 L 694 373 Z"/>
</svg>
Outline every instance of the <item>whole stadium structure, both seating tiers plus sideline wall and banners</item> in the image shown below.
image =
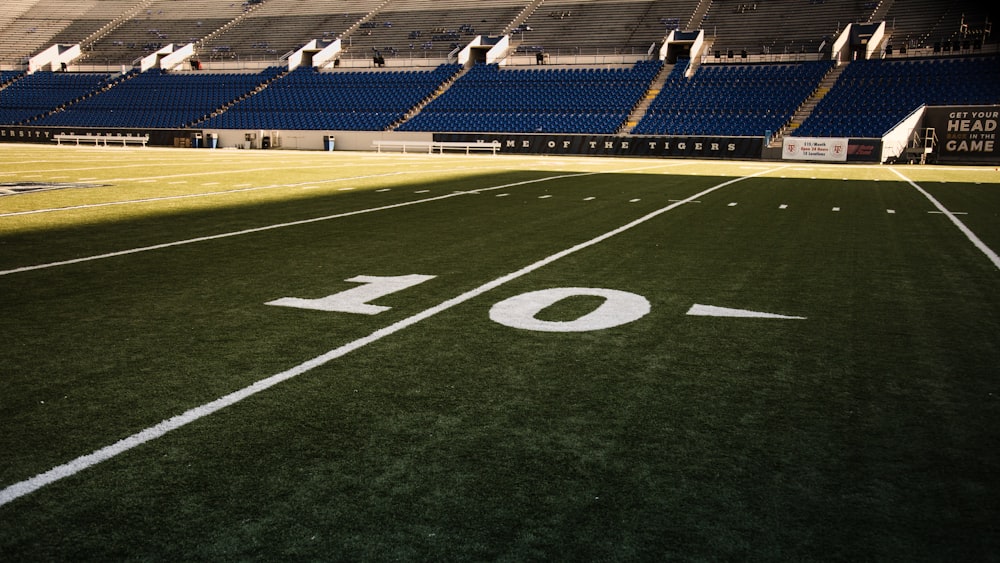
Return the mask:
<svg viewBox="0 0 1000 563">
<path fill-rule="evenodd" d="M 993 164 L 995 11 L 9 0 L 0 141 Z"/>
</svg>

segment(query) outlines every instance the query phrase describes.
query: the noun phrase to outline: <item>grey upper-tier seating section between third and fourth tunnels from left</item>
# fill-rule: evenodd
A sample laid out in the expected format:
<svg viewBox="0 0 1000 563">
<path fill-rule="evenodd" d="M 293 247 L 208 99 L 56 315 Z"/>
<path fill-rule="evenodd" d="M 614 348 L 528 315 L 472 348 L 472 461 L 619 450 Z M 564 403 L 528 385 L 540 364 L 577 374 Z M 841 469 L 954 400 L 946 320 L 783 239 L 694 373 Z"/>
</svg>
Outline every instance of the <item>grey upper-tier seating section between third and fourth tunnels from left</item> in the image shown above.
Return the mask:
<svg viewBox="0 0 1000 563">
<path fill-rule="evenodd" d="M 477 35 L 499 35 L 526 0 L 393 0 L 344 41 L 347 53 L 444 57 Z"/>
</svg>

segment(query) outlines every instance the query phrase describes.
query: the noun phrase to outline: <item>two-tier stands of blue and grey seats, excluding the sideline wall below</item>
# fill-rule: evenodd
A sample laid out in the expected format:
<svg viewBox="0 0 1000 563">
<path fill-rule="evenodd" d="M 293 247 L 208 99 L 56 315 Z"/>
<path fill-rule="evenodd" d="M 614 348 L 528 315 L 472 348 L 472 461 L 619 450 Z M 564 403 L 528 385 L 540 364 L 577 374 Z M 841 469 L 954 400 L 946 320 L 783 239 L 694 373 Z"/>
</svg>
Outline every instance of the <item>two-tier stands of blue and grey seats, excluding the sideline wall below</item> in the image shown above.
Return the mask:
<svg viewBox="0 0 1000 563">
<path fill-rule="evenodd" d="M 922 104 L 1000 103 L 995 15 L 970 0 L 8 0 L 0 122 L 878 137 Z M 878 49 L 833 60 L 845 26 L 881 21 Z M 666 54 L 671 30 L 699 29 L 699 56 Z M 473 38 L 504 34 L 501 64 L 456 64 Z M 350 68 L 307 59 L 289 72 L 291 53 L 338 39 Z M 53 44 L 83 55 L 63 72 L 29 68 Z M 193 44 L 207 70 L 140 72 L 168 44 Z M 375 55 L 393 68 L 370 70 Z"/>
</svg>

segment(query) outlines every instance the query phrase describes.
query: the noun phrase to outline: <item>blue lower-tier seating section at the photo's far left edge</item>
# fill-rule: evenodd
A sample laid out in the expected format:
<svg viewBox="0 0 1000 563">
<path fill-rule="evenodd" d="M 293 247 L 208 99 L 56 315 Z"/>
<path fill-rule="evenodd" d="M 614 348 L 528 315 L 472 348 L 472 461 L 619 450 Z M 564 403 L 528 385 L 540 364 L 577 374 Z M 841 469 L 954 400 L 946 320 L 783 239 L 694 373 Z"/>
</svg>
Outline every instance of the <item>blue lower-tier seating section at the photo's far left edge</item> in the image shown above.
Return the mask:
<svg viewBox="0 0 1000 563">
<path fill-rule="evenodd" d="M 110 79 L 111 75 L 108 73 L 40 71 L 26 75 L 0 90 L 0 123 L 27 123 L 100 89 Z M 37 125 L 38 122 L 31 124 Z"/>
</svg>

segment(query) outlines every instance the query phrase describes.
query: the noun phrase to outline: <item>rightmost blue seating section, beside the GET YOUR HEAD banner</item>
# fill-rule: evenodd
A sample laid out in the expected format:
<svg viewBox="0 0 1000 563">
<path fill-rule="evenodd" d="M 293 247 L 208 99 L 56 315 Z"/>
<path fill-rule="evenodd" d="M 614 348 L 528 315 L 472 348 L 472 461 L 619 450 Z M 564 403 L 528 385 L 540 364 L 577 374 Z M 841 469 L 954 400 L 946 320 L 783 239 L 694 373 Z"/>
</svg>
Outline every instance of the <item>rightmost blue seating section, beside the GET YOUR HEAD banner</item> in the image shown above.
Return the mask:
<svg viewBox="0 0 1000 563">
<path fill-rule="evenodd" d="M 1000 103 L 1000 59 L 855 61 L 794 136 L 881 137 L 927 105 Z"/>
</svg>

